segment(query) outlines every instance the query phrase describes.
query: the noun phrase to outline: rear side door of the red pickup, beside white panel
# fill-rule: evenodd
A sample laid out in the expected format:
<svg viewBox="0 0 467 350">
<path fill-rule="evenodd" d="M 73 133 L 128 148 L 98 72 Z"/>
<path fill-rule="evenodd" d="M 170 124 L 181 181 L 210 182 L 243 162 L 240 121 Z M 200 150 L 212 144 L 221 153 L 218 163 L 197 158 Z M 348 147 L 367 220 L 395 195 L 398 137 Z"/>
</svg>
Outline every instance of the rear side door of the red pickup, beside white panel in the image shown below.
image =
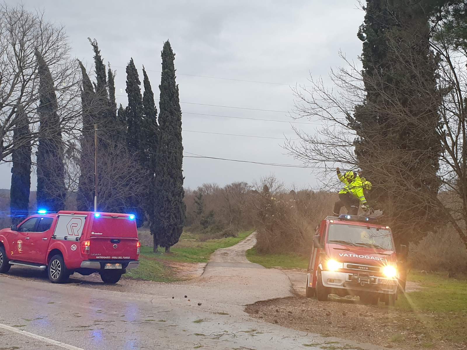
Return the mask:
<svg viewBox="0 0 467 350">
<path fill-rule="evenodd" d="M 52 231 L 50 228 L 54 221 L 53 217 L 38 217 L 38 223 L 35 232 L 29 233 L 28 243 L 26 244 L 26 254 L 28 261 L 39 264 L 45 264 L 47 251 L 49 249 L 50 237 Z"/>
</svg>

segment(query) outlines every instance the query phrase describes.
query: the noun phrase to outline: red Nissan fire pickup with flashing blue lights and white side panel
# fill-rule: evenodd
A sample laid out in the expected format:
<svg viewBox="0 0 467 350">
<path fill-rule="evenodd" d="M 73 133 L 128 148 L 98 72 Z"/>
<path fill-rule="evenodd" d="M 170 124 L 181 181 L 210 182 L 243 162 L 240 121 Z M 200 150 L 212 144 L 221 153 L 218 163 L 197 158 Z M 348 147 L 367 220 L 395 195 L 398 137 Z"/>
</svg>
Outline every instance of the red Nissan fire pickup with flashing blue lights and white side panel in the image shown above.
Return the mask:
<svg viewBox="0 0 467 350">
<path fill-rule="evenodd" d="M 98 272 L 105 283 L 117 283 L 139 266 L 140 247 L 133 214 L 39 210 L 0 230 L 0 273 L 19 265 L 47 269 L 52 283 L 75 272 Z"/>
</svg>

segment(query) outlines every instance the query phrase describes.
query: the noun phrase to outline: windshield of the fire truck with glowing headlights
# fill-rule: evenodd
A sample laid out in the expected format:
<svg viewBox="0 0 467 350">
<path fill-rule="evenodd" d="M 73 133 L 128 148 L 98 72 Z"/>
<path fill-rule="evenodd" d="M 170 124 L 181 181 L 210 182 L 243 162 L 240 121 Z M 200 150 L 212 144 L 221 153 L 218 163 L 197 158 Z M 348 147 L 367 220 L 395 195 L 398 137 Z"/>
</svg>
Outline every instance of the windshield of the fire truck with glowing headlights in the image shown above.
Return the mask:
<svg viewBox="0 0 467 350">
<path fill-rule="evenodd" d="M 389 230 L 356 225 L 331 224 L 327 235 L 329 243 L 368 247 L 394 251 L 392 234 Z"/>
</svg>

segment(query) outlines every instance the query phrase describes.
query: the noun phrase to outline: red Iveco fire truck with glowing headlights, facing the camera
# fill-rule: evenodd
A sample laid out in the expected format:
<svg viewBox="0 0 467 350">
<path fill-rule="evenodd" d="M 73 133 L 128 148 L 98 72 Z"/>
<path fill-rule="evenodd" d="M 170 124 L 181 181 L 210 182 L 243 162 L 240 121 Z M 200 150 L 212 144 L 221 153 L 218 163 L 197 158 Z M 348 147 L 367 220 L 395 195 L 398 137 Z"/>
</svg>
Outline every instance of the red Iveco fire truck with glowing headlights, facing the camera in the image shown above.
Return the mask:
<svg viewBox="0 0 467 350">
<path fill-rule="evenodd" d="M 401 246 L 403 249 L 405 246 Z M 393 305 L 399 285 L 389 226 L 374 218 L 328 216 L 317 226 L 306 278 L 306 296 L 358 295 L 368 304 Z"/>
</svg>

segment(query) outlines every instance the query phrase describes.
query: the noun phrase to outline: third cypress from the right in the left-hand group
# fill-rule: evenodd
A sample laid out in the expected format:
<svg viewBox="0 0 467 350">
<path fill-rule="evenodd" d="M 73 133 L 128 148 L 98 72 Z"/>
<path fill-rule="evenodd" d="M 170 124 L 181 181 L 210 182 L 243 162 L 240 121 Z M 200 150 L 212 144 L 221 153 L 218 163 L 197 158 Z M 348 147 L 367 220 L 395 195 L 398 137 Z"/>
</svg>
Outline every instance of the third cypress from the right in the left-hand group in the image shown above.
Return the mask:
<svg viewBox="0 0 467 350">
<path fill-rule="evenodd" d="M 142 138 L 144 132 L 144 112 L 142 104 L 142 96 L 140 89 L 140 78 L 138 70 L 134 65 L 133 58 L 127 65 L 127 96 L 128 105 L 125 110 L 127 118 L 127 145 L 134 152 L 141 164 L 147 161 L 144 147 L 142 147 Z M 128 201 L 127 211 L 131 211 L 136 216 L 138 227 L 141 227 L 144 222 L 143 200 L 140 197 L 134 197 Z"/>
</svg>

